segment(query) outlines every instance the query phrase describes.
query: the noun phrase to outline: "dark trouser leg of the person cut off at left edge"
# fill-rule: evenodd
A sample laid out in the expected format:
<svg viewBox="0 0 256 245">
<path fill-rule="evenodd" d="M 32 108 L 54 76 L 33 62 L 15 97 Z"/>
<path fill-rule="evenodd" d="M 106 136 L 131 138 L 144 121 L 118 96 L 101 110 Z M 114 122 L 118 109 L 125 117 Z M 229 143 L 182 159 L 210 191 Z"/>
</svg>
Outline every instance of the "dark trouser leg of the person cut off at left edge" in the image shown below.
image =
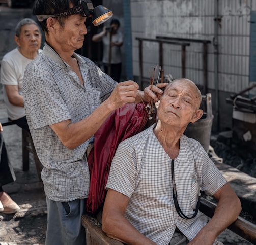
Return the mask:
<svg viewBox="0 0 256 245">
<path fill-rule="evenodd" d="M 0 156 L 0 187 L 2 187 L 16 180 L 12 165 L 8 160 L 2 132 L 0 132 Z"/>
</svg>

